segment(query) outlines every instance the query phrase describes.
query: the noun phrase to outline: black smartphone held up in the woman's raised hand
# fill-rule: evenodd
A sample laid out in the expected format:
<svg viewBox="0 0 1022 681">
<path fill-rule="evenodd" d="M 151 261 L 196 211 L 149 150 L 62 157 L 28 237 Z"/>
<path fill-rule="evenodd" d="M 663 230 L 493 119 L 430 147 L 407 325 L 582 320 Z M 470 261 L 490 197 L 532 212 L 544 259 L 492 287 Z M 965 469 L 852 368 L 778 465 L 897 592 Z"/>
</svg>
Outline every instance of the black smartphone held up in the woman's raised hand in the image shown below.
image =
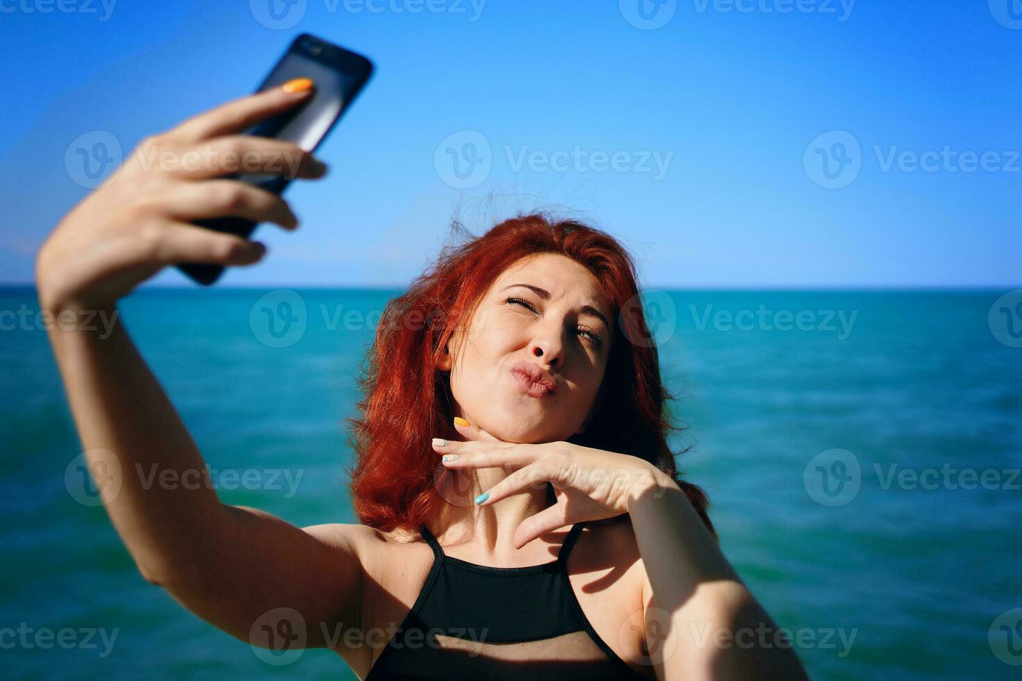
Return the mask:
<svg viewBox="0 0 1022 681">
<path fill-rule="evenodd" d="M 306 151 L 315 151 L 365 86 L 372 72 L 372 62 L 361 54 L 304 33 L 294 39 L 257 92 L 295 78 L 311 78 L 316 91 L 306 101 L 252 126 L 244 134 L 283 139 L 294 142 Z M 225 177 L 248 182 L 276 194 L 290 183 L 290 178 L 283 175 L 239 173 Z M 254 222 L 242 218 L 195 220 L 193 224 L 244 237 L 256 229 Z M 205 263 L 181 263 L 178 269 L 204 286 L 224 273 L 222 266 Z"/>
</svg>

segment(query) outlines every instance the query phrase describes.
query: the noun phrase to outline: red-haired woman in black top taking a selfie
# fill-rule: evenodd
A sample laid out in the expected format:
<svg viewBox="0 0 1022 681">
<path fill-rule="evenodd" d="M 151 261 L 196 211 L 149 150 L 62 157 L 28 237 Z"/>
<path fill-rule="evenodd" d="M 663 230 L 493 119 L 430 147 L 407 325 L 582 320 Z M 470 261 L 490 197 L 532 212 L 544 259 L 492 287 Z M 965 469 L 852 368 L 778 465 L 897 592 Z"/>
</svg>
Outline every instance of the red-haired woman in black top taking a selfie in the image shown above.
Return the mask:
<svg viewBox="0 0 1022 681">
<path fill-rule="evenodd" d="M 144 578 L 242 640 L 329 647 L 360 678 L 804 678 L 718 550 L 705 497 L 675 480 L 629 256 L 575 222 L 502 223 L 388 304 L 354 419 L 361 524 L 299 529 L 133 474 L 205 468 L 124 325 L 100 338 L 68 322 L 115 314 L 167 265 L 265 253 L 189 221 L 295 228 L 282 198 L 222 176 L 229 158 L 323 176 L 298 147 L 239 134 L 310 86 L 146 138 L 39 253 L 89 468 Z M 199 155 L 213 163 L 152 163 Z"/>
</svg>

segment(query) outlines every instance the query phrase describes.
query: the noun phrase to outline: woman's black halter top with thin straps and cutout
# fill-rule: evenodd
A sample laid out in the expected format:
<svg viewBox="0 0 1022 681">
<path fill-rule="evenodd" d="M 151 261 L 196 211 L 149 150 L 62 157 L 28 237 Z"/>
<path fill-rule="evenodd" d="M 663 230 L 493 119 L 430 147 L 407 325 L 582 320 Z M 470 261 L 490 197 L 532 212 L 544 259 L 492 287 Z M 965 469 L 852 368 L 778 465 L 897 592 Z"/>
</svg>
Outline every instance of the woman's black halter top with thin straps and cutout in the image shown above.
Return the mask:
<svg viewBox="0 0 1022 681">
<path fill-rule="evenodd" d="M 408 616 L 365 681 L 643 679 L 594 631 L 565 569 L 582 523 L 557 559 L 524 568 L 445 555 L 425 525 L 433 564 Z"/>
</svg>

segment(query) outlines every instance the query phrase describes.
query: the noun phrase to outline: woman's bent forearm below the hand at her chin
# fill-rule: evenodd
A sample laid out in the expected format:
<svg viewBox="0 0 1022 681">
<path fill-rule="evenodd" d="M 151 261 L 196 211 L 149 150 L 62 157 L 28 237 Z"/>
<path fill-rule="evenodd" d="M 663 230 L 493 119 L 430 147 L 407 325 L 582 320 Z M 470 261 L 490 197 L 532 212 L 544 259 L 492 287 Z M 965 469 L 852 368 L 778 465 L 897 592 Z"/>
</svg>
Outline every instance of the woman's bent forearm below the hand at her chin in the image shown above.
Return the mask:
<svg viewBox="0 0 1022 681">
<path fill-rule="evenodd" d="M 646 641 L 657 677 L 806 679 L 791 643 L 717 548 L 685 493 L 654 469 L 629 514 L 646 569 Z"/>
</svg>

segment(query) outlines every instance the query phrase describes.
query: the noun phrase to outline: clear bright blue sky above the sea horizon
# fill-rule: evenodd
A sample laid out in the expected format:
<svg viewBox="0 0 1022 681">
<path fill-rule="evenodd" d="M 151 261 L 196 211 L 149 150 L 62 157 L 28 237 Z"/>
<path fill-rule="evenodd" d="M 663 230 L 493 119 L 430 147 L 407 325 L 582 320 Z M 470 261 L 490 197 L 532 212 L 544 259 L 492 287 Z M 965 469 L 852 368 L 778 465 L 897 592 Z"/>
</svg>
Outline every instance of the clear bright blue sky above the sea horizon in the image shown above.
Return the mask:
<svg viewBox="0 0 1022 681">
<path fill-rule="evenodd" d="M 650 286 L 1022 281 L 1018 0 L 272 0 L 285 28 L 270 1 L 0 2 L 0 280 L 87 193 L 77 138 L 127 153 L 308 32 L 377 71 L 328 178 L 286 193 L 303 227 L 260 227 L 224 284 L 401 286 L 456 211 L 533 208 L 620 237 Z"/>
</svg>

